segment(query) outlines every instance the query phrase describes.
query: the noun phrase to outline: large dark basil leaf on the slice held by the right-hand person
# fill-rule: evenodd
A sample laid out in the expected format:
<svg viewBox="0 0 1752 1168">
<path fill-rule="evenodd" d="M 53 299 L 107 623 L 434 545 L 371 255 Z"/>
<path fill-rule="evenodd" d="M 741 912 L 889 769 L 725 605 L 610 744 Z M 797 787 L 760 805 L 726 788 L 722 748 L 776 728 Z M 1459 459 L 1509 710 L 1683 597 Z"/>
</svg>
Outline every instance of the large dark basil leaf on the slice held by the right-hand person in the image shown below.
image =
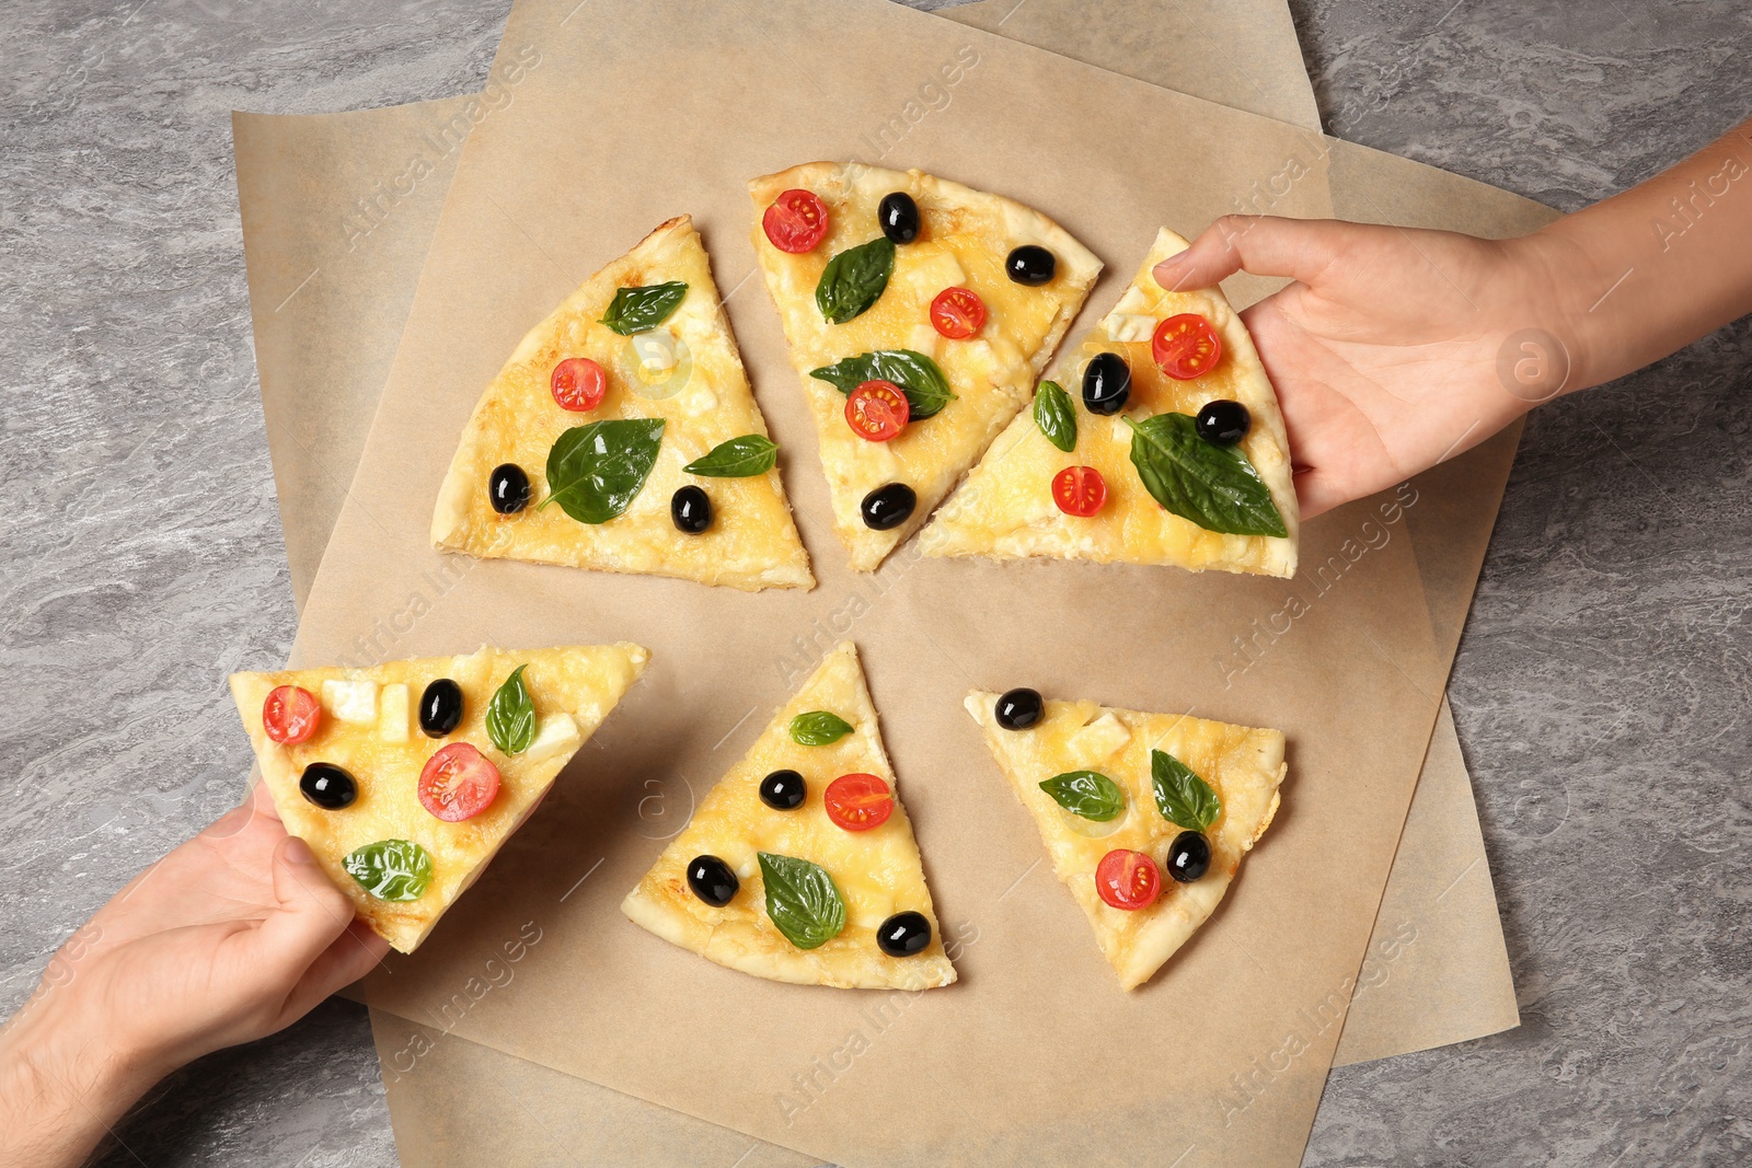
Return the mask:
<svg viewBox="0 0 1752 1168">
<path fill-rule="evenodd" d="M 1181 518 L 1230 536 L 1288 536 L 1265 480 L 1239 447 L 1198 436 L 1186 413 L 1134 422 L 1132 466 L 1144 490 Z"/>
</svg>

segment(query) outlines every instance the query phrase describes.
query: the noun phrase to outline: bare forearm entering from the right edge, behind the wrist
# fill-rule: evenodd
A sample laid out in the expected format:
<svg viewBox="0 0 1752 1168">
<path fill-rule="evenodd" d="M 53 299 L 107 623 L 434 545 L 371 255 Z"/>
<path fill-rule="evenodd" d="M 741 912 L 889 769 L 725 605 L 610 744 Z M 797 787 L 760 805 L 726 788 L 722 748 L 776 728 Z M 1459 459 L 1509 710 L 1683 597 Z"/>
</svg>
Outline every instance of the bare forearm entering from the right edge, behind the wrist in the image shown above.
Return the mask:
<svg viewBox="0 0 1752 1168">
<path fill-rule="evenodd" d="M 1608 382 L 1752 312 L 1752 121 L 1524 243 L 1568 322 L 1565 389 Z"/>
</svg>

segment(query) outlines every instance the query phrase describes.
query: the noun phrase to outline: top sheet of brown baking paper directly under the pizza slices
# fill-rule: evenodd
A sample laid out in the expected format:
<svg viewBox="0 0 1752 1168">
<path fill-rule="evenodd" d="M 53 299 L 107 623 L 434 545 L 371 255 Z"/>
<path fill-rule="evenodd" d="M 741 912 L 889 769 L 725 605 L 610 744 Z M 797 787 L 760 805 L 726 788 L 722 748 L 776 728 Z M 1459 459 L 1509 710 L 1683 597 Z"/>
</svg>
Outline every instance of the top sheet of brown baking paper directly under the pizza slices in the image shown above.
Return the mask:
<svg viewBox="0 0 1752 1168">
<path fill-rule="evenodd" d="M 1025 194 L 1109 257 L 1135 256 L 1162 221 L 1197 229 L 1228 210 L 1300 158 L 1307 135 L 979 33 L 944 37 L 934 18 L 880 4 L 725 4 L 689 7 L 687 19 L 676 5 L 597 4 L 589 35 L 543 16 L 512 18 L 505 54 L 540 46 L 540 60 L 464 151 L 298 655 L 361 660 L 615 630 L 655 658 L 457 919 L 373 977 L 370 1000 L 850 1164 L 1099 1163 L 1170 1143 L 1209 1163 L 1293 1159 L 1435 713 L 1433 692 L 1412 681 L 1438 669 L 1402 510 L 1370 501 L 1310 525 L 1307 562 L 1326 576 L 1310 569 L 1307 585 L 909 553 L 851 578 L 820 541 L 825 492 L 809 473 L 811 429 L 776 317 L 738 289 L 753 271 L 741 179 L 867 152 L 858 142 L 892 124 L 890 110 L 904 116 L 918 86 L 941 86 L 930 79 L 955 60 L 951 100 L 908 123 L 906 161 Z M 855 74 L 841 67 L 848 44 Z M 766 63 L 760 86 L 746 84 L 753 63 Z M 1042 93 L 1063 103 L 1042 105 Z M 801 109 L 834 117 L 788 117 Z M 1091 130 L 1095 112 L 1125 131 Z M 1165 173 L 1132 159 L 1134 135 L 1200 166 Z M 573 173 L 617 184 L 564 182 Z M 1091 173 L 1102 175 L 1097 214 Z M 1321 194 L 1291 182 L 1281 203 L 1318 214 Z M 678 210 L 701 222 L 729 291 L 822 588 L 745 597 L 431 553 L 433 492 L 480 385 L 529 320 Z M 1298 587 L 1307 595 L 1291 632 L 1237 665 L 1232 637 L 1284 611 Z M 661 827 L 653 800 L 680 816 L 844 634 L 864 648 L 958 951 L 964 981 L 950 989 L 759 982 L 617 912 L 659 849 L 639 839 Z M 1032 825 L 1000 795 L 958 707 L 972 685 L 1023 678 L 1291 735 L 1291 790 L 1268 846 L 1212 928 L 1137 995 L 1114 988 L 1070 898 L 1039 870 Z M 1354 869 L 1316 895 L 1337 832 L 1356 839 Z M 1139 1031 L 1158 1073 L 1107 1073 L 1114 1035 Z M 1256 1065 L 1275 1066 L 1263 1086 L 1246 1079 Z"/>
</svg>

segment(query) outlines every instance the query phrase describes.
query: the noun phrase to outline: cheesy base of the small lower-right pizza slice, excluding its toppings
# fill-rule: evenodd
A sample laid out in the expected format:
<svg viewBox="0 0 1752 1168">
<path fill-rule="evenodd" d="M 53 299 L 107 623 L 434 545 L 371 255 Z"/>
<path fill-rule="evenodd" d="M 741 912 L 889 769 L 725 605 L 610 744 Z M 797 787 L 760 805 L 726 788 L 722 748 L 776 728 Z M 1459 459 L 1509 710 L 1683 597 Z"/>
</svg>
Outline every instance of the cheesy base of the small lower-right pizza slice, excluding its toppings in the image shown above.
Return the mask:
<svg viewBox="0 0 1752 1168">
<path fill-rule="evenodd" d="M 969 693 L 967 713 L 985 728 L 986 744 L 1016 797 L 1034 814 L 1053 870 L 1070 888 L 1095 928 L 1120 982 L 1148 981 L 1211 916 L 1240 858 L 1265 834 L 1277 811 L 1284 777 L 1284 735 L 1183 714 L 1106 709 L 1095 702 L 1046 702 L 1046 716 L 1027 730 L 997 725 L 997 693 Z M 1095 891 L 1095 867 L 1114 848 L 1142 851 L 1158 865 L 1184 828 L 1156 809 L 1149 753 L 1167 751 L 1191 767 L 1223 800 L 1207 832 L 1211 869 L 1191 884 L 1162 877 L 1162 897 L 1148 909 L 1109 907 Z M 1099 770 L 1120 785 L 1127 807 L 1118 820 L 1090 823 L 1041 790 L 1067 770 Z"/>
</svg>

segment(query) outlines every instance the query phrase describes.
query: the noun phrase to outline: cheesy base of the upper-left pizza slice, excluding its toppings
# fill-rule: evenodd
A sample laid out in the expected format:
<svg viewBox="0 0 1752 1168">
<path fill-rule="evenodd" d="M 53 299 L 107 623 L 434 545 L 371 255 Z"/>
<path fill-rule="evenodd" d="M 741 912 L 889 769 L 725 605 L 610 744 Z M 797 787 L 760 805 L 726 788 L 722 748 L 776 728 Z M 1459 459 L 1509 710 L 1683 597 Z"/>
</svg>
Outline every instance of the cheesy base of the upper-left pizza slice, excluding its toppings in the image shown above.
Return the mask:
<svg viewBox="0 0 1752 1168">
<path fill-rule="evenodd" d="M 682 280 L 687 296 L 648 333 L 620 336 L 601 324 L 622 287 Z M 608 373 L 603 405 L 562 410 L 550 391 L 554 366 L 590 357 Z M 575 426 L 610 419 L 664 419 L 662 445 L 643 490 L 606 524 L 580 524 L 548 497 L 547 459 Z M 608 264 L 524 336 L 482 396 L 463 433 L 433 517 L 433 543 L 480 557 L 680 576 L 734 588 L 813 587 L 809 560 L 785 503 L 778 468 L 750 478 L 696 478 L 683 466 L 741 434 L 766 434 L 731 338 L 706 249 L 685 215 Z M 529 476 L 529 506 L 498 515 L 487 478 L 501 462 Z M 690 536 L 669 518 L 669 497 L 687 483 L 711 496 L 713 525 Z"/>
</svg>

